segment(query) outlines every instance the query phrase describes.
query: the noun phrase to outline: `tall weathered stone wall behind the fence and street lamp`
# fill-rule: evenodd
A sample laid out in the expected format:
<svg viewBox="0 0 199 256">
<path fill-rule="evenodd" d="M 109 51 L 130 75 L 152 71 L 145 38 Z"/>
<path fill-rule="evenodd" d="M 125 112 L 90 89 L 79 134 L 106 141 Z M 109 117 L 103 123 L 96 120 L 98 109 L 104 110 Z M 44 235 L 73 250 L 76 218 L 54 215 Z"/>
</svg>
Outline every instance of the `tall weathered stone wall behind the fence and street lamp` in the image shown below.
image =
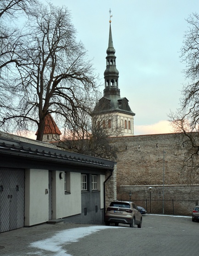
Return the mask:
<svg viewBox="0 0 199 256">
<path fill-rule="evenodd" d="M 199 186 L 194 189 L 193 186 L 187 186 L 188 179 L 182 172 L 182 161 L 187 149 L 180 142 L 179 134 L 117 137 L 113 143 L 119 147 L 116 160 L 117 199 L 128 196 L 130 190 L 137 198 L 147 198 L 149 186 L 153 187 L 151 193 L 154 199 L 161 198 L 163 171 L 165 198 L 199 197 Z M 195 182 L 199 184 L 198 180 Z"/>
</svg>

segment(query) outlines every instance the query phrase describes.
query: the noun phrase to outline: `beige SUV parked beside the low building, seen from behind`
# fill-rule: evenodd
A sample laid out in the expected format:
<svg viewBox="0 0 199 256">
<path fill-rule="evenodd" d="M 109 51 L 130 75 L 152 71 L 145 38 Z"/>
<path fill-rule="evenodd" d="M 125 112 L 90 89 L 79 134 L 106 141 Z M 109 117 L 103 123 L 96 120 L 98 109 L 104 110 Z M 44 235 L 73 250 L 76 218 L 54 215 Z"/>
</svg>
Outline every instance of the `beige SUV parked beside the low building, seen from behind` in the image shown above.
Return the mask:
<svg viewBox="0 0 199 256">
<path fill-rule="evenodd" d="M 134 202 L 114 201 L 110 203 L 105 214 L 105 225 L 109 226 L 110 223 L 114 223 L 115 226 L 119 223 L 129 224 L 130 227 L 136 224 L 141 228 L 142 214 Z"/>
</svg>

